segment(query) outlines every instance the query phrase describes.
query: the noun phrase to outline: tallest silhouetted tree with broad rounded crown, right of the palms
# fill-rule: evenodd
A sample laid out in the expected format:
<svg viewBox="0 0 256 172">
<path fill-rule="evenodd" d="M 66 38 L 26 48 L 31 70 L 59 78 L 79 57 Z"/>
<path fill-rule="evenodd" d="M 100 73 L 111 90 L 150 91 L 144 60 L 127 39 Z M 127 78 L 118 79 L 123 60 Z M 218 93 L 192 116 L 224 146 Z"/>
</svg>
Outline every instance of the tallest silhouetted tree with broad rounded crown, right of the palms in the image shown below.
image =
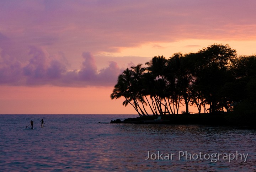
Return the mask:
<svg viewBox="0 0 256 172">
<path fill-rule="evenodd" d="M 222 101 L 221 88 L 229 82 L 228 68 L 236 58 L 236 50 L 229 45 L 213 44 L 196 53 L 197 83 L 209 104 L 209 112 L 216 112 L 227 102 Z"/>
</svg>

